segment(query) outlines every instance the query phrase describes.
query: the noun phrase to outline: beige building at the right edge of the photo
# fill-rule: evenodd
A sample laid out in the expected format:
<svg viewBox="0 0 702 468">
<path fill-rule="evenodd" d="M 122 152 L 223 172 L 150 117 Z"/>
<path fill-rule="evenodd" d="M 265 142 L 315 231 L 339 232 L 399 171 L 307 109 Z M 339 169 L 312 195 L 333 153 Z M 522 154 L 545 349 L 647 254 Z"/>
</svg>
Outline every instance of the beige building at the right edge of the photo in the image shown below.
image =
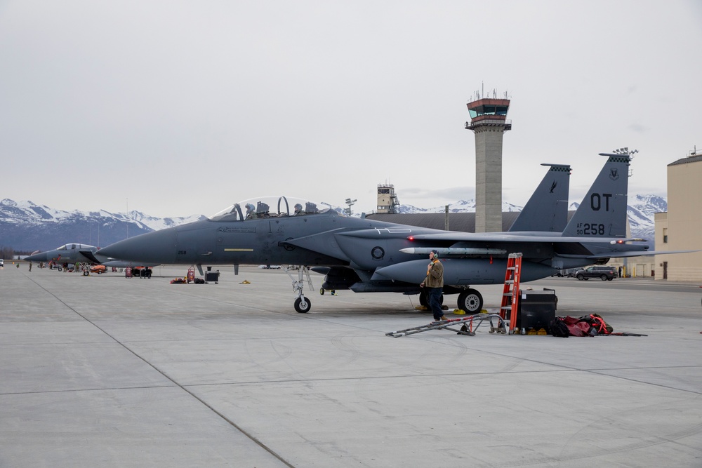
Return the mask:
<svg viewBox="0 0 702 468">
<path fill-rule="evenodd" d="M 668 212 L 656 213 L 656 250 L 702 249 L 702 155 L 668 164 Z M 702 282 L 702 251 L 656 255 L 656 279 Z"/>
</svg>

